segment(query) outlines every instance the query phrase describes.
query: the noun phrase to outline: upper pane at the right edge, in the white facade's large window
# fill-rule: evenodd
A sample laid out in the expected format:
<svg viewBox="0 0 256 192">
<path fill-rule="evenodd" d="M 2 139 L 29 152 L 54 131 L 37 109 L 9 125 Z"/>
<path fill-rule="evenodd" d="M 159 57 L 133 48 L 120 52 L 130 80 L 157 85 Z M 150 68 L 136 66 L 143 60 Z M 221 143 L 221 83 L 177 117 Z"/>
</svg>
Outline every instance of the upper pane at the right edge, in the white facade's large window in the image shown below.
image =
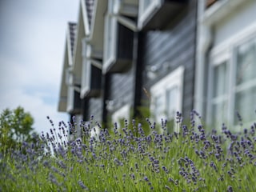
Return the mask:
<svg viewBox="0 0 256 192">
<path fill-rule="evenodd" d="M 236 85 L 256 78 L 255 42 L 247 42 L 238 47 Z"/>
</svg>

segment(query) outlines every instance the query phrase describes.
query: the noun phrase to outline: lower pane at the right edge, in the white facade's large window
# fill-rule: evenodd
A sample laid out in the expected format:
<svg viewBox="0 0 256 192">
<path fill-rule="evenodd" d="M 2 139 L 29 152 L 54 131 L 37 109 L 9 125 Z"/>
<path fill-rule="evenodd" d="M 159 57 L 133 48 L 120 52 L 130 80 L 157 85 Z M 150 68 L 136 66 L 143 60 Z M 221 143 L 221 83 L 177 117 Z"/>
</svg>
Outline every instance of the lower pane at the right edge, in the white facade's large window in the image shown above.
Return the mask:
<svg viewBox="0 0 256 192">
<path fill-rule="evenodd" d="M 256 110 L 256 87 L 247 89 L 246 91 L 238 92 L 235 95 L 235 110 L 242 115 L 243 122 L 252 122 L 255 120 Z M 238 118 L 234 117 L 235 125 L 238 124 Z"/>
</svg>

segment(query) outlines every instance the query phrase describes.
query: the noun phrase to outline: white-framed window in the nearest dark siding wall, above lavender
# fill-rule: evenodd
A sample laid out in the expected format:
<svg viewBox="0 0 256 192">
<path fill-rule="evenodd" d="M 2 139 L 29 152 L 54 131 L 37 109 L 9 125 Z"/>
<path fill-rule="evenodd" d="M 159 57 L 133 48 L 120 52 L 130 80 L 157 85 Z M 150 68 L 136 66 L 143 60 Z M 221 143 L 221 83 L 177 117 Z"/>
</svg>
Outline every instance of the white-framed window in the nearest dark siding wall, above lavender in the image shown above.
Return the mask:
<svg viewBox="0 0 256 192">
<path fill-rule="evenodd" d="M 184 67 L 180 66 L 151 87 L 150 109 L 156 122 L 160 123 L 162 118 L 175 122 L 176 112 L 182 112 L 183 73 Z"/>
</svg>

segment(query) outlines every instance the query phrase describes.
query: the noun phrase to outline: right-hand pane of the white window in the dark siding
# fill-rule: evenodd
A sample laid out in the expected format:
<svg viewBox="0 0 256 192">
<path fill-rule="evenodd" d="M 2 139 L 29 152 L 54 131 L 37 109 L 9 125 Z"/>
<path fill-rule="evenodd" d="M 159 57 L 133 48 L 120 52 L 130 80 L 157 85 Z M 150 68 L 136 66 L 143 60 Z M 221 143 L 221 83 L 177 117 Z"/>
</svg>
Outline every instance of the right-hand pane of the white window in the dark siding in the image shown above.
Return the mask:
<svg viewBox="0 0 256 192">
<path fill-rule="evenodd" d="M 166 114 L 168 119 L 175 117 L 178 102 L 178 86 L 166 90 Z"/>
</svg>

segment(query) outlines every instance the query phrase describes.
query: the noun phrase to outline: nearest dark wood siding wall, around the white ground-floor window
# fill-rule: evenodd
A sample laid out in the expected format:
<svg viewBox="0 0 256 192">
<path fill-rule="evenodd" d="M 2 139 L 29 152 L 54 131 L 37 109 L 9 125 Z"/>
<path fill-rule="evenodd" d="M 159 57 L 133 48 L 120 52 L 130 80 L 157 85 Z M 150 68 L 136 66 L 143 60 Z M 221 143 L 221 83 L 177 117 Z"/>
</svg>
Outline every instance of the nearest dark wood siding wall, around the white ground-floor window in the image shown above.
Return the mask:
<svg viewBox="0 0 256 192">
<path fill-rule="evenodd" d="M 189 117 L 194 102 L 194 62 L 196 40 L 196 1 L 190 1 L 186 9 L 175 18 L 170 20 L 169 26 L 161 31 L 147 31 L 142 40 L 143 76 L 142 87 L 150 90 L 150 87 L 170 74 L 178 66 L 185 67 L 182 112 L 185 118 Z M 169 68 L 162 67 L 158 78 L 151 80 L 146 76 L 149 66 L 169 62 Z M 142 99 L 147 99 L 142 90 Z"/>
</svg>

